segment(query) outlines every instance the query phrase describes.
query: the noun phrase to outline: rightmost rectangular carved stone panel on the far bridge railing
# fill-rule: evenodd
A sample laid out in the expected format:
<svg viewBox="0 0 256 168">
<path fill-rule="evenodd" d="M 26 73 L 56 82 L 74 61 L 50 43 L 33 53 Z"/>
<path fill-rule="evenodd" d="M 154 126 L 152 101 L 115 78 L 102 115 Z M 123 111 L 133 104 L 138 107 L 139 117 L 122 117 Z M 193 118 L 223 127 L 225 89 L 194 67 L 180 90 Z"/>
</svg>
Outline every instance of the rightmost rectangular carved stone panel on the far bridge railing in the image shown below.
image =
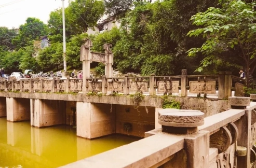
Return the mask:
<svg viewBox="0 0 256 168">
<path fill-rule="evenodd" d="M 216 81 L 190 81 L 190 93 L 216 93 Z"/>
</svg>

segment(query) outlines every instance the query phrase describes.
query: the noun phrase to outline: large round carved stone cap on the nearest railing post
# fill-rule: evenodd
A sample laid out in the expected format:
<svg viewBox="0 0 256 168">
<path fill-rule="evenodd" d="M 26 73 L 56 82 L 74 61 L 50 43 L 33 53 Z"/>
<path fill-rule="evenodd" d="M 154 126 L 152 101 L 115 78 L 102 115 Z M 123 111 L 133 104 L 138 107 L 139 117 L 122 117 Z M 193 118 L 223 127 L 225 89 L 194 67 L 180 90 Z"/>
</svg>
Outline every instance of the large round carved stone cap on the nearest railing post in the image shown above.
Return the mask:
<svg viewBox="0 0 256 168">
<path fill-rule="evenodd" d="M 204 124 L 204 116 L 199 110 L 166 108 L 158 110 L 158 123 L 169 127 L 198 127 Z"/>
</svg>

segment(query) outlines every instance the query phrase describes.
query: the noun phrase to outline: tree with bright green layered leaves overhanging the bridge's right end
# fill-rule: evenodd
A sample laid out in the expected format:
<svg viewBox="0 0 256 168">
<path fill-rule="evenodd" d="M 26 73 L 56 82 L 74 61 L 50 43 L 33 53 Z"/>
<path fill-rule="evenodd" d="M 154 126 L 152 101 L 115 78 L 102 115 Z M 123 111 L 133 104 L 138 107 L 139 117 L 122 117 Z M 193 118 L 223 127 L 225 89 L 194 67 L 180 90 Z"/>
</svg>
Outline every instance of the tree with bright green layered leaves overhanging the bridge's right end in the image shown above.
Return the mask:
<svg viewBox="0 0 256 168">
<path fill-rule="evenodd" d="M 203 35 L 205 43 L 199 48 L 191 48 L 188 56 L 202 53 L 205 57 L 197 71 L 226 60 L 244 67 L 252 74 L 256 68 L 256 23 L 254 3 L 231 1 L 220 8 L 208 8 L 205 12 L 194 15 L 193 24 L 201 28 L 190 31 L 187 35 Z"/>
</svg>

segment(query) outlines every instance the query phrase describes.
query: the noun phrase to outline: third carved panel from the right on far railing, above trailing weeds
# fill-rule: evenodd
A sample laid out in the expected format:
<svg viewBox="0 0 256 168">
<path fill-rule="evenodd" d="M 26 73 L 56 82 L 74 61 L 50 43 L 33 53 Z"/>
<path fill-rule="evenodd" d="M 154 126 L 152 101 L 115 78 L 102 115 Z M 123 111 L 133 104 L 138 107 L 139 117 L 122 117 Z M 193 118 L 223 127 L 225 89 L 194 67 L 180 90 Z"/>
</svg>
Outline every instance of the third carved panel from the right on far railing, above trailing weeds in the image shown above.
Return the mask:
<svg viewBox="0 0 256 168">
<path fill-rule="evenodd" d="M 143 81 L 142 78 L 135 78 L 134 81 L 130 82 L 131 92 L 148 92 L 149 87 L 147 81 Z"/>
</svg>

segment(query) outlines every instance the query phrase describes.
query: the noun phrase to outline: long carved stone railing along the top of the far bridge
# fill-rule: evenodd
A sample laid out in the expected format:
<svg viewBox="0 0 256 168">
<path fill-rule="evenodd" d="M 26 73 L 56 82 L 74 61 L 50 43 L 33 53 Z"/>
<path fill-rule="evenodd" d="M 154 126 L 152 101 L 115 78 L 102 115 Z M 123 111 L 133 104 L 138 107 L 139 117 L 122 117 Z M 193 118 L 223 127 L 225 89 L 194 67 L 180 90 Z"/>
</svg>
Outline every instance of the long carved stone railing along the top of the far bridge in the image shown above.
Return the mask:
<svg viewBox="0 0 256 168">
<path fill-rule="evenodd" d="M 235 84 L 233 80 L 238 80 Z M 194 93 L 207 97 L 207 94 L 218 96 L 219 99 L 228 99 L 232 90 L 235 95 L 242 94 L 242 80 L 232 76 L 229 72 L 220 72 L 219 75 L 186 75 L 186 69 L 182 70 L 180 76 L 143 76 L 143 77 L 124 77 L 107 78 L 87 78 L 84 93 L 122 93 L 125 95 L 141 92 L 148 95 L 180 95 L 187 96 Z M 233 84 L 235 85 L 233 87 Z M 82 79 L 11 79 L 6 81 L 0 78 L 1 91 L 14 92 L 82 92 Z M 218 94 L 217 94 L 218 90 Z"/>
</svg>

